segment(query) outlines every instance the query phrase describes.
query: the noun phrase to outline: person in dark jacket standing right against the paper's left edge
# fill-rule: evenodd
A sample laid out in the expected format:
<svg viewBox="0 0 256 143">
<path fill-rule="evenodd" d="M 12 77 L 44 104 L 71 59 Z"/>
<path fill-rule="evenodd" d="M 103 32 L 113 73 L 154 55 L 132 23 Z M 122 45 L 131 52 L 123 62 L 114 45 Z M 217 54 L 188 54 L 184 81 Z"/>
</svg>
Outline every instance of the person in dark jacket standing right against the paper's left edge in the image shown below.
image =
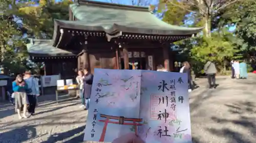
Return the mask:
<svg viewBox="0 0 256 143">
<path fill-rule="evenodd" d="M 84 109 L 89 109 L 92 84 L 93 84 L 93 74 L 90 73 L 87 69 L 83 70 L 83 97 L 85 98 L 86 107 Z"/>
</svg>

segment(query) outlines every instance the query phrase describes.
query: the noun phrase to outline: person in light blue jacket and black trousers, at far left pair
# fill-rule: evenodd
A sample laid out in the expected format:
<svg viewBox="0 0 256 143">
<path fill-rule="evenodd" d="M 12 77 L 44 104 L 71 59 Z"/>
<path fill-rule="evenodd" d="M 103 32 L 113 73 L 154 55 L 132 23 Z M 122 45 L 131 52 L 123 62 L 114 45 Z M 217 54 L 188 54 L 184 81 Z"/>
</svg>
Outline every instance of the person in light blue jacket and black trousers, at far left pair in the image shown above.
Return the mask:
<svg viewBox="0 0 256 143">
<path fill-rule="evenodd" d="M 33 116 L 35 113 L 35 107 L 37 104 L 37 96 L 39 96 L 39 85 L 38 81 L 31 75 L 31 71 L 26 71 L 24 75 L 24 79 L 28 84 L 28 100 L 29 100 L 29 108 L 28 112 L 30 116 Z"/>
</svg>

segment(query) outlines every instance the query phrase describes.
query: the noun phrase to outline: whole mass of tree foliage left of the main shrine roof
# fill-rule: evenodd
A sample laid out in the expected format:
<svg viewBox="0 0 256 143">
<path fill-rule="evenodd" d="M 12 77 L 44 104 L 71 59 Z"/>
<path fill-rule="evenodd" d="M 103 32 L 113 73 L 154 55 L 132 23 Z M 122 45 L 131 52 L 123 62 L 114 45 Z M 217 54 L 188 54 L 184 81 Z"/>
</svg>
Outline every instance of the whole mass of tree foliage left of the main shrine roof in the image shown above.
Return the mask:
<svg viewBox="0 0 256 143">
<path fill-rule="evenodd" d="M 6 74 L 28 69 L 27 38 L 51 39 L 54 20 L 69 18 L 72 1 L 1 1 L 0 46 L 1 64 Z M 24 38 L 24 34 L 27 37 Z M 3 71 L 3 70 L 2 70 Z"/>
</svg>

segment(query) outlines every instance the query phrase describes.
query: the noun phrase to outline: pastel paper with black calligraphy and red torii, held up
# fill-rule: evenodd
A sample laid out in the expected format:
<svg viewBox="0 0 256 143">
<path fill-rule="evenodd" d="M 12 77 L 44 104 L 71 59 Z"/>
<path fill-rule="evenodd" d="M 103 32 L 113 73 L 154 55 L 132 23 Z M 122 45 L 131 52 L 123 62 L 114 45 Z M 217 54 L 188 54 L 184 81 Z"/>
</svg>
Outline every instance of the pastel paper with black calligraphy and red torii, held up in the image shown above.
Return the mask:
<svg viewBox="0 0 256 143">
<path fill-rule="evenodd" d="M 94 69 L 84 140 L 191 143 L 187 89 L 185 73 Z"/>
</svg>

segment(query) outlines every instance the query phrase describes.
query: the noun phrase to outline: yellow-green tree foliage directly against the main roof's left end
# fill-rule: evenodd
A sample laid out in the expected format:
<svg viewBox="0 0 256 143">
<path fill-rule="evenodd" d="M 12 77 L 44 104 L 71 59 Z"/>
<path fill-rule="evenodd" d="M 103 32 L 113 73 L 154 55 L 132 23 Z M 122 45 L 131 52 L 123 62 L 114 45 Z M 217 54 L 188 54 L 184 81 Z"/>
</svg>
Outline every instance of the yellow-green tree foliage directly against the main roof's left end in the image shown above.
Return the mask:
<svg viewBox="0 0 256 143">
<path fill-rule="evenodd" d="M 16 15 L 23 21 L 28 36 L 39 39 L 52 39 L 54 19 L 69 20 L 69 5 L 72 1 L 61 2 L 41 0 L 36 6 L 20 4 Z"/>
</svg>

